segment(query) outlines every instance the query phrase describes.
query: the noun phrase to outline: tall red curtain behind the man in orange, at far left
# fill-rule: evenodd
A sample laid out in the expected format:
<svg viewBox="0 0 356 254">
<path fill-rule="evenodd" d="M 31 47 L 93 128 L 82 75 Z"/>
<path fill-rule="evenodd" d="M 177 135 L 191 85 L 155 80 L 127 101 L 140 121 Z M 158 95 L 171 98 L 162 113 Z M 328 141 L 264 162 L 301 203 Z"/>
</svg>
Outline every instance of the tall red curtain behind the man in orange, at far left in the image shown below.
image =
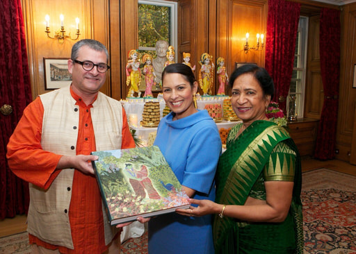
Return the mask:
<svg viewBox="0 0 356 254">
<path fill-rule="evenodd" d="M 17 178 L 6 162 L 6 144 L 27 104 L 32 101 L 21 0 L 0 1 L 0 219 L 23 214 L 29 208 L 29 185 Z"/>
</svg>

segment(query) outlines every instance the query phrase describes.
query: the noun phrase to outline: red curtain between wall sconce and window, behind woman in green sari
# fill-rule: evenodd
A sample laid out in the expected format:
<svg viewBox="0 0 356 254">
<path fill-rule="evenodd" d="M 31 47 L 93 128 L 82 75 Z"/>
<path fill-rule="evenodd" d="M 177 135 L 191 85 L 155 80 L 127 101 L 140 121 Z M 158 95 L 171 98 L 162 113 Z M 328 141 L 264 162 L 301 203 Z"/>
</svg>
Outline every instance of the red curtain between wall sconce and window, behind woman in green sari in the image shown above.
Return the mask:
<svg viewBox="0 0 356 254">
<path fill-rule="evenodd" d="M 286 112 L 286 96 L 291 85 L 300 3 L 268 1 L 265 67 L 275 83 L 273 101 Z"/>
</svg>

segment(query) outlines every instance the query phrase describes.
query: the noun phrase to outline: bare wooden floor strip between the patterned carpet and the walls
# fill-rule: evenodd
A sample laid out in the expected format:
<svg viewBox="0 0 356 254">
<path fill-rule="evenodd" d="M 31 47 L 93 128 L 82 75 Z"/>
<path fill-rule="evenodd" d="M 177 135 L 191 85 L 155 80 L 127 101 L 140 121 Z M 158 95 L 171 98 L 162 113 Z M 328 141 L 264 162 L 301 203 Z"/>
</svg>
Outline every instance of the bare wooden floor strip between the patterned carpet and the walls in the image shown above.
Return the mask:
<svg viewBox="0 0 356 254">
<path fill-rule="evenodd" d="M 348 173 L 356 176 L 356 166 L 341 160 L 312 160 L 310 158 L 302 158 L 302 171 L 310 171 L 320 168 L 333 169 L 335 171 Z M 17 215 L 12 219 L 0 220 L 0 237 L 13 235 L 26 230 L 26 215 Z"/>
</svg>

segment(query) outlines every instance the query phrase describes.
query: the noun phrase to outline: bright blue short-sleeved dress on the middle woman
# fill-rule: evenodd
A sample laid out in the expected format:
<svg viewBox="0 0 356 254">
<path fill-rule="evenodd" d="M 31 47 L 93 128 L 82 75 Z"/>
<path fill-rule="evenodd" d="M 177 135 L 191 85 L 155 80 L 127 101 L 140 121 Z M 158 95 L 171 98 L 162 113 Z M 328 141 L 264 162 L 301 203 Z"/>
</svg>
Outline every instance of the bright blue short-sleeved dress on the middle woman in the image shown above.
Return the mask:
<svg viewBox="0 0 356 254">
<path fill-rule="evenodd" d="M 159 146 L 179 182 L 195 189 L 195 199 L 215 200 L 214 177 L 221 152 L 218 128 L 207 110 L 173 121 L 170 113 L 159 123 Z M 148 223 L 148 252 L 214 253 L 211 215 L 186 217 L 175 212 Z"/>
</svg>

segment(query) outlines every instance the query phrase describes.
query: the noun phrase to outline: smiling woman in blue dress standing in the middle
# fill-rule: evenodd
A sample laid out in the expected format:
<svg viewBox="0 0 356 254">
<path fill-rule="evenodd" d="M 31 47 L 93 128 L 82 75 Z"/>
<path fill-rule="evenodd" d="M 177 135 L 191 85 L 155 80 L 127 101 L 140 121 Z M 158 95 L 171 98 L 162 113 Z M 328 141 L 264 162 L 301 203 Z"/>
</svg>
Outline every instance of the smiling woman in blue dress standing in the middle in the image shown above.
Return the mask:
<svg viewBox="0 0 356 254">
<path fill-rule="evenodd" d="M 181 63 L 165 67 L 162 90 L 172 112 L 161 119 L 154 145 L 159 146 L 189 197 L 214 201 L 221 139 L 207 110 L 195 108 L 197 81 L 191 68 Z M 214 253 L 211 219 L 210 215 L 184 217 L 177 213 L 150 219 L 148 252 Z"/>
</svg>

